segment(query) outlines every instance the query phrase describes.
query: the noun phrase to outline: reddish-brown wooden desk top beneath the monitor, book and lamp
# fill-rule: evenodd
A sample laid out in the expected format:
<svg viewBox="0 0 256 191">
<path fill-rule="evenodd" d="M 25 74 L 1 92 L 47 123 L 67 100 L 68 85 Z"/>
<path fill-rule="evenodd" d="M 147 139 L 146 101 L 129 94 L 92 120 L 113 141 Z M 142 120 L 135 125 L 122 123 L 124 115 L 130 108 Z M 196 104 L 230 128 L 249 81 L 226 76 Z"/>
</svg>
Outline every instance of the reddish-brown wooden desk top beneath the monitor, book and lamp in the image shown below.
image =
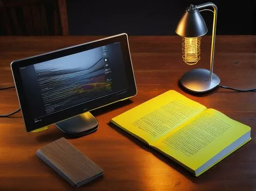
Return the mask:
<svg viewBox="0 0 256 191">
<path fill-rule="evenodd" d="M 101 37 L 0 37 L 0 86 L 13 84 L 10 62 Z M 178 36 L 131 36 L 130 49 L 138 94 L 131 102 L 106 106 L 92 113 L 99 129 L 69 141 L 104 170 L 104 176 L 77 190 L 255 190 L 256 93 L 217 88 L 203 96 L 178 86 L 189 69 L 209 68 L 210 36 L 202 38 L 201 61 L 195 66 L 181 59 Z M 256 87 L 255 36 L 217 36 L 214 73 L 221 84 L 241 89 Z M 175 162 L 109 125 L 112 117 L 169 89 L 208 108 L 215 108 L 251 127 L 252 140 L 196 178 Z M 14 89 L 0 91 L 1 114 L 19 107 Z M 38 148 L 63 134 L 54 126 L 27 133 L 21 113 L 0 118 L 0 190 L 73 189 L 36 157 Z"/>
</svg>

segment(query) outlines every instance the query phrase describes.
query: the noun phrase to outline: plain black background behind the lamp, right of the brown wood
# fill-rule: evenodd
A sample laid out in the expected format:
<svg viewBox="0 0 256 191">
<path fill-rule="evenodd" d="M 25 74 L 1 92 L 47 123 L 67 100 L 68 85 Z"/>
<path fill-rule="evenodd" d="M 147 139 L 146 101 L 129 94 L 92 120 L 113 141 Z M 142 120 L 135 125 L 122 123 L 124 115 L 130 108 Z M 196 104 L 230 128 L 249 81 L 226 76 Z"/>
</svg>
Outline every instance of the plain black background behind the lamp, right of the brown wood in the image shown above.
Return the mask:
<svg viewBox="0 0 256 191">
<path fill-rule="evenodd" d="M 256 1 L 83 1 L 68 0 L 70 35 L 176 35 L 175 28 L 190 4 L 218 7 L 217 35 L 255 35 Z M 213 13 L 201 12 L 208 35 Z"/>
</svg>

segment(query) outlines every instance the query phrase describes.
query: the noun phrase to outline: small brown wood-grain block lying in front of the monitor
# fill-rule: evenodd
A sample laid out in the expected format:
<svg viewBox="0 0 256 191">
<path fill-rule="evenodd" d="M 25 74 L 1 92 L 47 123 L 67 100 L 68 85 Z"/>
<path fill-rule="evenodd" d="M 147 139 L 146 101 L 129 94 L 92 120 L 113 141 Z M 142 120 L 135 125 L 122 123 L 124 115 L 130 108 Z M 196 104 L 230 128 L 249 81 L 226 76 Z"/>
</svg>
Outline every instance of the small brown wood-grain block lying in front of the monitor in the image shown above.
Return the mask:
<svg viewBox="0 0 256 191">
<path fill-rule="evenodd" d="M 36 155 L 75 187 L 88 183 L 103 173 L 100 166 L 64 137 L 41 147 Z"/>
</svg>

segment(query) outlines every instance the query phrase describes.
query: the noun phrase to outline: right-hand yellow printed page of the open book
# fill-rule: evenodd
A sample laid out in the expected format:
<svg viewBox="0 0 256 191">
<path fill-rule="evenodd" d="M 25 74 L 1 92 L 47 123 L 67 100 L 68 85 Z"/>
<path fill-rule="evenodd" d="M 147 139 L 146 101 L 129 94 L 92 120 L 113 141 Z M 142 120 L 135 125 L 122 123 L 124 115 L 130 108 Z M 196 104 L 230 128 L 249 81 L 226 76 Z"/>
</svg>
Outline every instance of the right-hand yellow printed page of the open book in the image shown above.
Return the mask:
<svg viewBox="0 0 256 191">
<path fill-rule="evenodd" d="M 250 127 L 207 109 L 160 138 L 153 147 L 196 170 L 248 131 Z"/>
</svg>

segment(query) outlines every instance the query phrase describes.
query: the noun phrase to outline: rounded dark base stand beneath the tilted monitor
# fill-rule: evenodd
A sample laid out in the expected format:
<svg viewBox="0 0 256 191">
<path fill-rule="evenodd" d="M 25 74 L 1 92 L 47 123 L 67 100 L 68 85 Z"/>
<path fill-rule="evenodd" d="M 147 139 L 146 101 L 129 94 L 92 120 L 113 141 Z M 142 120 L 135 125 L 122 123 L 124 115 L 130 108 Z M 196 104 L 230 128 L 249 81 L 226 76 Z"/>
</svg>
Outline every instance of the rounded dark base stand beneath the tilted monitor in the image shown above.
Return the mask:
<svg viewBox="0 0 256 191">
<path fill-rule="evenodd" d="M 63 133 L 71 137 L 80 137 L 98 129 L 97 119 L 90 113 L 82 113 L 55 124 Z"/>
</svg>

